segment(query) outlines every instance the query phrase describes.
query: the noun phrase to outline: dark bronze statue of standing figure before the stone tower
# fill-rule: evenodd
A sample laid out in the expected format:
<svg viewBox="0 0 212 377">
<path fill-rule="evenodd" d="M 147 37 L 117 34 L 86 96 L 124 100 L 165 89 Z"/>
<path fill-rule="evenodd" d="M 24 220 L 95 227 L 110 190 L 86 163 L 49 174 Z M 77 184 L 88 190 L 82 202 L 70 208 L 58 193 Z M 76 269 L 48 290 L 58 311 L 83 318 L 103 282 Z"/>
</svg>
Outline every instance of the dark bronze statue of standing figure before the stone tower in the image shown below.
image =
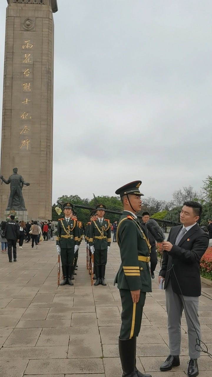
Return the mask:
<svg viewBox="0 0 212 377">
<path fill-rule="evenodd" d="M 23 185 L 29 186 L 30 183 L 25 182 L 23 177 L 17 174 L 18 168 L 14 167 L 13 174 L 9 176 L 8 180 L 6 180 L 3 175 L 0 176 L 2 179 L 2 183 L 5 182 L 6 185 L 10 183 L 10 195 L 8 200 L 8 210 L 17 210 L 17 211 L 26 211 L 25 202 L 23 199 L 22 189 Z"/>
</svg>

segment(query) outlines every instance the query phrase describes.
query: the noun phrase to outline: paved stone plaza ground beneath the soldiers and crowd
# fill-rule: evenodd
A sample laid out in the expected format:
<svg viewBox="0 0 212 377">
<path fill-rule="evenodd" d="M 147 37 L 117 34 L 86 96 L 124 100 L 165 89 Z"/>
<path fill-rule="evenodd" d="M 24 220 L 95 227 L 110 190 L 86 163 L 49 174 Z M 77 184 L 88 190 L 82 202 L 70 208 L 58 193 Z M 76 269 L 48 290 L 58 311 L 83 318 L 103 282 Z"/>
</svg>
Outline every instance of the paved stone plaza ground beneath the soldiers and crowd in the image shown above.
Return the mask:
<svg viewBox="0 0 212 377">
<path fill-rule="evenodd" d="M 112 243 L 106 269 L 107 287 L 91 287 L 84 241 L 74 287 L 57 288 L 55 242 L 17 249 L 9 264 L 0 253 L 0 377 L 121 377 L 118 357 L 121 302 L 113 286 L 120 264 Z M 159 264 L 157 271 L 159 271 Z M 200 298 L 202 339 L 212 353 L 212 289 L 204 285 Z M 207 296 L 207 297 L 206 297 Z M 171 372 L 159 366 L 169 354 L 164 291 L 153 280 L 147 293 L 137 366 L 152 377 L 183 377 L 187 371 L 187 334 L 182 320 L 181 365 Z M 212 376 L 212 359 L 202 356 L 200 376 Z"/>
</svg>

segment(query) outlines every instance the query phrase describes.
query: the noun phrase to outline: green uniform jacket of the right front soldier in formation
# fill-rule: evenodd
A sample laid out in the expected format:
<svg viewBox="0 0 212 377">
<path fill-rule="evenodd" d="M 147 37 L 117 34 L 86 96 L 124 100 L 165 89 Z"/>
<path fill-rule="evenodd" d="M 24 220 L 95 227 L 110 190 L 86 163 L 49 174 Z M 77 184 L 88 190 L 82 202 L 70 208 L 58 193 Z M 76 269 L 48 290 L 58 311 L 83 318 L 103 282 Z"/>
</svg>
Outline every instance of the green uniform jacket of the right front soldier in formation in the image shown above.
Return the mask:
<svg viewBox="0 0 212 377">
<path fill-rule="evenodd" d="M 94 250 L 105 250 L 111 245 L 110 220 L 104 219 L 102 225 L 97 220 L 92 220 L 89 229 L 89 245 L 94 245 Z"/>
</svg>

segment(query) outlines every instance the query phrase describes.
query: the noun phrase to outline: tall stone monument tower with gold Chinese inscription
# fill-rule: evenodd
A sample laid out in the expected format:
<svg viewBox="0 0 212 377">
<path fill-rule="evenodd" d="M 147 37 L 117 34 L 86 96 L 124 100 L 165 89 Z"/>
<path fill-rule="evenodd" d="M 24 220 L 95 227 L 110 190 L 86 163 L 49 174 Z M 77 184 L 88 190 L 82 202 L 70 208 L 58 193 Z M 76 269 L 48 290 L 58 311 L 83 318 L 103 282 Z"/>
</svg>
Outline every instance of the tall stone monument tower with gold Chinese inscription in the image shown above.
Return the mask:
<svg viewBox="0 0 212 377">
<path fill-rule="evenodd" d="M 51 219 L 54 21 L 57 0 L 7 0 L 0 174 L 14 167 L 32 219 Z M 0 185 L 0 218 L 9 186 Z M 21 220 L 21 219 L 20 219 Z"/>
</svg>

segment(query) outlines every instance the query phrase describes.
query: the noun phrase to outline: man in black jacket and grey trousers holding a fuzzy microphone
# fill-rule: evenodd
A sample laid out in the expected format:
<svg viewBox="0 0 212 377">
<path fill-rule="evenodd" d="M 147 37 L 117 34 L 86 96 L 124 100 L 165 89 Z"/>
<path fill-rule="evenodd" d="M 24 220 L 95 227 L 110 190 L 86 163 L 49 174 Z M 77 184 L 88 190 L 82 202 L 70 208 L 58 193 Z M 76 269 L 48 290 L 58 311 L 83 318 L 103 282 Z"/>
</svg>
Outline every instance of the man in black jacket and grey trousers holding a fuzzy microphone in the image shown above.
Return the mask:
<svg viewBox="0 0 212 377">
<path fill-rule="evenodd" d="M 170 349 L 170 355 L 160 366 L 160 370 L 169 371 L 173 366 L 180 365 L 181 317 L 184 309 L 189 339 L 189 377 L 199 374 L 197 359 L 200 357 L 200 350 L 196 346 L 196 339 L 197 334 L 201 339 L 198 320 L 200 259 L 209 244 L 208 234 L 197 223 L 201 213 L 201 204 L 193 201 L 184 203 L 180 213 L 183 226 L 173 227 L 167 241 L 163 242 L 163 262 L 158 277 L 158 282 L 165 280 Z"/>
</svg>

